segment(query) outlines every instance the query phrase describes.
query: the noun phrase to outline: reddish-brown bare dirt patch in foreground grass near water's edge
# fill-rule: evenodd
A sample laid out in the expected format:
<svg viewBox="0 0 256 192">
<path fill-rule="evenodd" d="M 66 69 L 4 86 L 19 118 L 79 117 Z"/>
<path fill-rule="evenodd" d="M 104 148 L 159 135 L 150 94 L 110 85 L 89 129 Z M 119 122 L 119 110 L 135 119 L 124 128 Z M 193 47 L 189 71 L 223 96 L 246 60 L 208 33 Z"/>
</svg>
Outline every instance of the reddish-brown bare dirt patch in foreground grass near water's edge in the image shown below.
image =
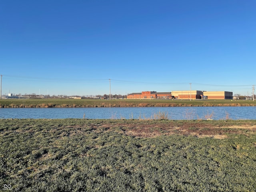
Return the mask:
<svg viewBox="0 0 256 192">
<path fill-rule="evenodd" d="M 111 124 L 101 124 L 101 127 L 110 127 L 108 131 L 115 130 L 111 128 Z M 163 122 L 158 121 L 157 123 L 123 123 L 116 124 L 119 127 L 118 132 L 134 137 L 140 138 L 151 138 L 162 135 L 192 135 L 198 137 L 212 137 L 216 139 L 226 138 L 228 134 L 255 134 L 256 125 L 242 124 L 242 125 L 232 125 L 227 126 L 225 124 L 211 124 L 200 121 L 184 121 L 182 123 L 177 122 Z"/>
</svg>

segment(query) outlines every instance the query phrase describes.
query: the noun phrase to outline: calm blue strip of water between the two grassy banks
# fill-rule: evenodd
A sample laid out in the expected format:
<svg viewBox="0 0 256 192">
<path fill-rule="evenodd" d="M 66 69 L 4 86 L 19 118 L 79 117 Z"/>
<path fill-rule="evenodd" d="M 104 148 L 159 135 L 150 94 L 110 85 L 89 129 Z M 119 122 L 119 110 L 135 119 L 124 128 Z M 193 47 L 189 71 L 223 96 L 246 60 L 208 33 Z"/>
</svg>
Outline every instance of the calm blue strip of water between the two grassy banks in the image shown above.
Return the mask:
<svg viewBox="0 0 256 192">
<path fill-rule="evenodd" d="M 111 107 L 111 108 L 0 108 L 0 118 L 145 119 L 164 113 L 169 119 L 256 119 L 256 107 Z"/>
</svg>

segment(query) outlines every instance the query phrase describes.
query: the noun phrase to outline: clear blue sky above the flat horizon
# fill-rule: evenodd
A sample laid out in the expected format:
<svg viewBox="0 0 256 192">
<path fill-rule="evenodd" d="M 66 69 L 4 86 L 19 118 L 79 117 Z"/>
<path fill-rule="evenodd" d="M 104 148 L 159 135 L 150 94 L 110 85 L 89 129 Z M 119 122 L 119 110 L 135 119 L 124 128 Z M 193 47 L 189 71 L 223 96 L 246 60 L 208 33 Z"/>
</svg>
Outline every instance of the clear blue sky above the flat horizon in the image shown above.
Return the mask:
<svg viewBox="0 0 256 192">
<path fill-rule="evenodd" d="M 5 0 L 2 94 L 251 95 L 255 0 Z"/>
</svg>

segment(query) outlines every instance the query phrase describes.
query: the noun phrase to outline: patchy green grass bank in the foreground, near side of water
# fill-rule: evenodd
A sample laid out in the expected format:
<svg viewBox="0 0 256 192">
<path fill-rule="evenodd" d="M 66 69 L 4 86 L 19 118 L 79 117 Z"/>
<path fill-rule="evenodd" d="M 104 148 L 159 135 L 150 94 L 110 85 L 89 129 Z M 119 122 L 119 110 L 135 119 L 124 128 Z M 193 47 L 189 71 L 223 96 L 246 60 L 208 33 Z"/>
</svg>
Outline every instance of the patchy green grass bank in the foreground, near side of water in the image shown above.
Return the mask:
<svg viewBox="0 0 256 192">
<path fill-rule="evenodd" d="M 256 120 L 1 119 L 0 186 L 251 192 L 255 133 Z"/>
</svg>

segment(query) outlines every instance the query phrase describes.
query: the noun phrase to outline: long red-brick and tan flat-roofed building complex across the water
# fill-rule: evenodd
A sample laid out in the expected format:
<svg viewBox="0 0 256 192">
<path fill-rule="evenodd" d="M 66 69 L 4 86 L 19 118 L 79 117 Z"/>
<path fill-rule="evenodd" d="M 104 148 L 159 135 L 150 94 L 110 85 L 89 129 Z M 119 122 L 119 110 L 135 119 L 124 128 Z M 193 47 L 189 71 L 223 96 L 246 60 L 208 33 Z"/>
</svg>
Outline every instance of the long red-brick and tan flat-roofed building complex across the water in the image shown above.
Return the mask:
<svg viewBox="0 0 256 192">
<path fill-rule="evenodd" d="M 172 91 L 156 92 L 142 91 L 141 93 L 131 93 L 127 99 L 178 99 L 178 100 L 195 100 L 195 99 L 233 99 L 233 92 L 228 91 Z"/>
</svg>

